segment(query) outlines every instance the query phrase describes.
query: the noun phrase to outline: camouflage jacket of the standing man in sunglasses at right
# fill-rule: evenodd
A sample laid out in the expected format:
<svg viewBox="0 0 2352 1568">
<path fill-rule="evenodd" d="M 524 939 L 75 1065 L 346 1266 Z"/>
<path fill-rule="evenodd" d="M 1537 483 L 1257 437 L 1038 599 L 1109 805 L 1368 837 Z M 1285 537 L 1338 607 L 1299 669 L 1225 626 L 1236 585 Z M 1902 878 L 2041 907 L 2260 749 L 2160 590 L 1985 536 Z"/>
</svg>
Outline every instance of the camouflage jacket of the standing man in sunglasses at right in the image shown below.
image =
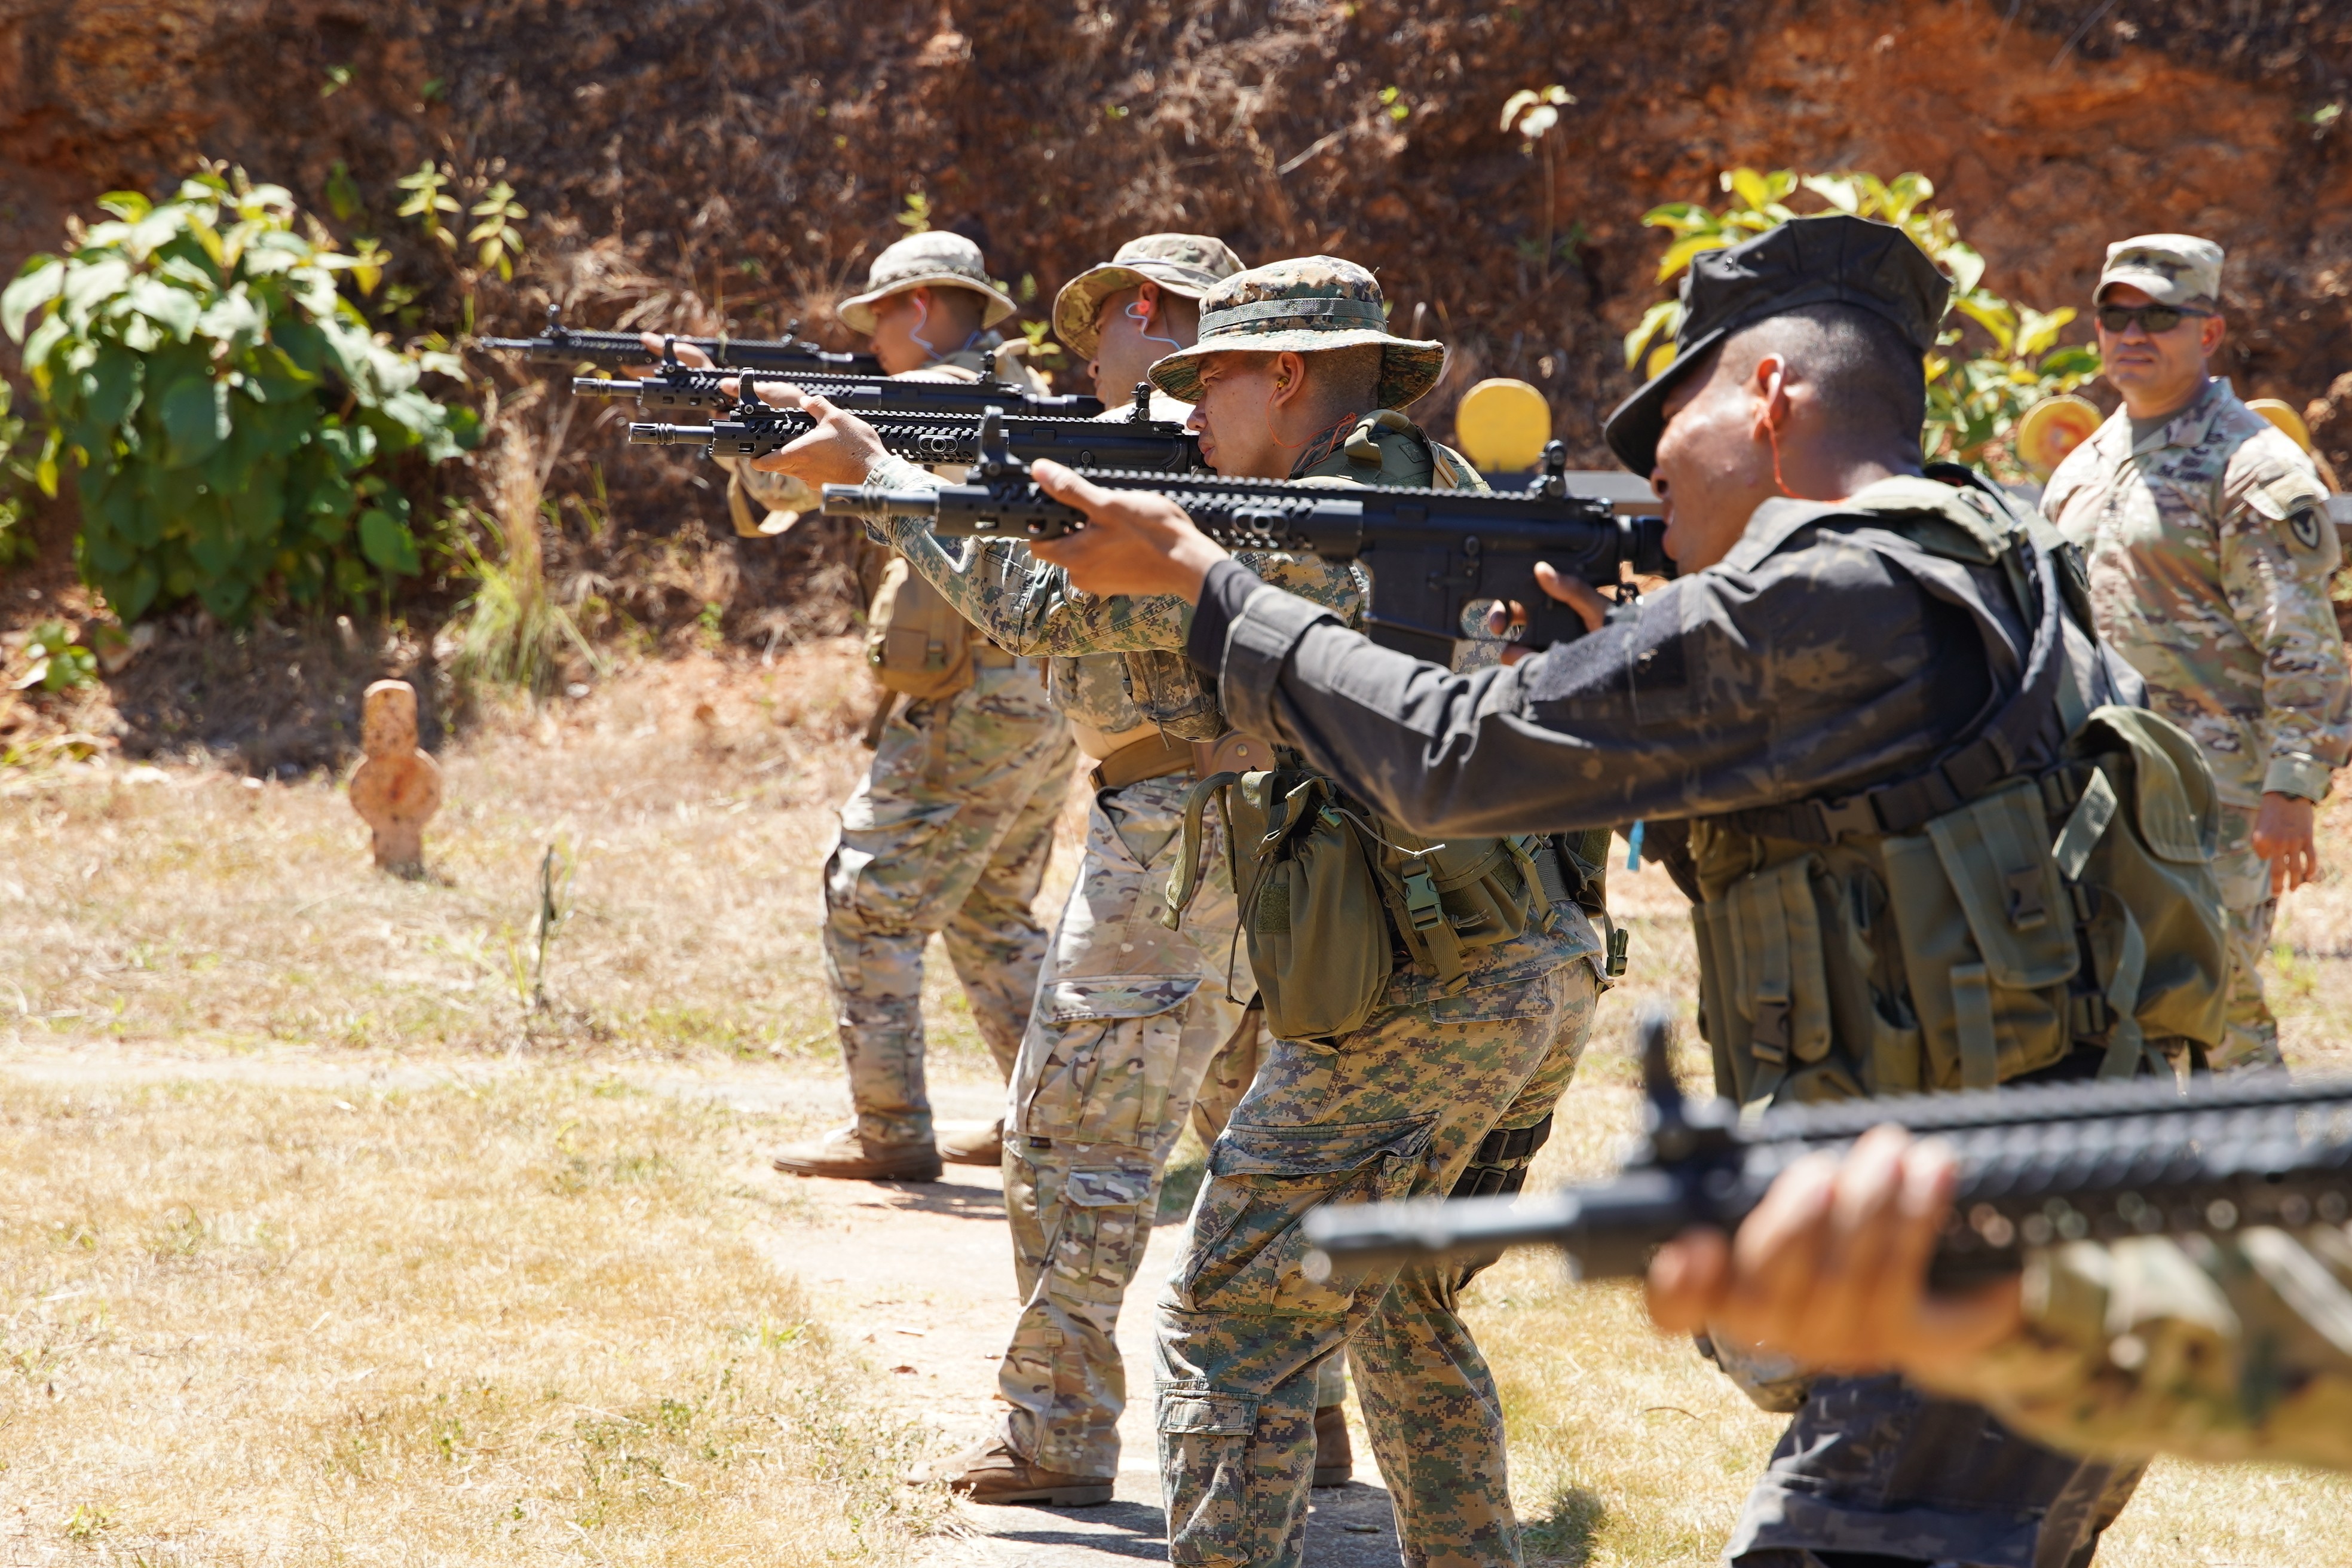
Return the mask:
<svg viewBox="0 0 2352 1568">
<path fill-rule="evenodd" d="M 2133 444 L 2117 411 L 2042 494 L 2084 552 L 2098 632 L 2204 748 L 2225 802 L 2321 799 L 2352 745 L 2310 458 L 2227 381 Z"/>
</svg>

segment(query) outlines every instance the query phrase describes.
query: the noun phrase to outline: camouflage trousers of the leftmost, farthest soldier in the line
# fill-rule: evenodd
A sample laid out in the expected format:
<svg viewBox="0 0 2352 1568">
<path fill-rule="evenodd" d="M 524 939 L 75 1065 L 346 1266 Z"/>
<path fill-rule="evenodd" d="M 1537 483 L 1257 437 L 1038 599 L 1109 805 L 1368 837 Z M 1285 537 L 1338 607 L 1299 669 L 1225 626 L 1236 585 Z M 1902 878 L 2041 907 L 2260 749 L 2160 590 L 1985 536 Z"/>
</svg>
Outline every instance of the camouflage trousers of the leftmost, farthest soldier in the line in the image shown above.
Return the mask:
<svg viewBox="0 0 2352 1568">
<path fill-rule="evenodd" d="M 922 945 L 938 931 L 971 1020 L 1011 1072 L 1044 931 L 1030 914 L 1077 748 L 1028 663 L 908 703 L 842 804 L 826 860 L 826 978 L 870 1143 L 929 1143 Z"/>
</svg>

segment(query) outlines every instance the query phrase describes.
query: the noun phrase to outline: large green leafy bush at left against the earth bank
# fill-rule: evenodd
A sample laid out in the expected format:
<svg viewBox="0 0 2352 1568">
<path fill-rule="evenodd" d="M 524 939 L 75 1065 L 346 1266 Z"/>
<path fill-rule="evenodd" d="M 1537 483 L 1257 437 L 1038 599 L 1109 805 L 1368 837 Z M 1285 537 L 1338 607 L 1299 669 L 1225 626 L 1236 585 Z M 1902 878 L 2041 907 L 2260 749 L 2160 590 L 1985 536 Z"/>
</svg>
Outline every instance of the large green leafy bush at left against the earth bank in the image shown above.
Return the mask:
<svg viewBox="0 0 2352 1568">
<path fill-rule="evenodd" d="M 470 449 L 477 416 L 419 390 L 454 355 L 395 350 L 339 287 L 379 252 L 336 249 L 282 186 L 205 167 L 162 202 L 99 197 L 115 221 L 33 256 L 0 329 L 49 421 L 38 477 L 82 465 L 82 576 L 115 614 L 195 597 L 223 621 L 256 602 L 362 602 L 414 576 L 400 454 Z"/>
</svg>

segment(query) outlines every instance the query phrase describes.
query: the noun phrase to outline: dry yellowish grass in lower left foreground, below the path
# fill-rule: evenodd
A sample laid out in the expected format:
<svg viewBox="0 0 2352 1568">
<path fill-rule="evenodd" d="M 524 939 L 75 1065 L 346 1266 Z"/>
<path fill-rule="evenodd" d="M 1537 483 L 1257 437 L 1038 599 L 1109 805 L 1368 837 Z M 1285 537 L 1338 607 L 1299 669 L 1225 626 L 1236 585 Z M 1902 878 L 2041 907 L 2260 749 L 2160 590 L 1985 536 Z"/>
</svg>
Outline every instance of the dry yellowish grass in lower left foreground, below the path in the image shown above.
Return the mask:
<svg viewBox="0 0 2352 1568">
<path fill-rule="evenodd" d="M 0 1121 L 9 1561 L 880 1563 L 936 1526 L 917 1429 L 755 1246 L 731 1112 L 546 1077 Z"/>
</svg>

